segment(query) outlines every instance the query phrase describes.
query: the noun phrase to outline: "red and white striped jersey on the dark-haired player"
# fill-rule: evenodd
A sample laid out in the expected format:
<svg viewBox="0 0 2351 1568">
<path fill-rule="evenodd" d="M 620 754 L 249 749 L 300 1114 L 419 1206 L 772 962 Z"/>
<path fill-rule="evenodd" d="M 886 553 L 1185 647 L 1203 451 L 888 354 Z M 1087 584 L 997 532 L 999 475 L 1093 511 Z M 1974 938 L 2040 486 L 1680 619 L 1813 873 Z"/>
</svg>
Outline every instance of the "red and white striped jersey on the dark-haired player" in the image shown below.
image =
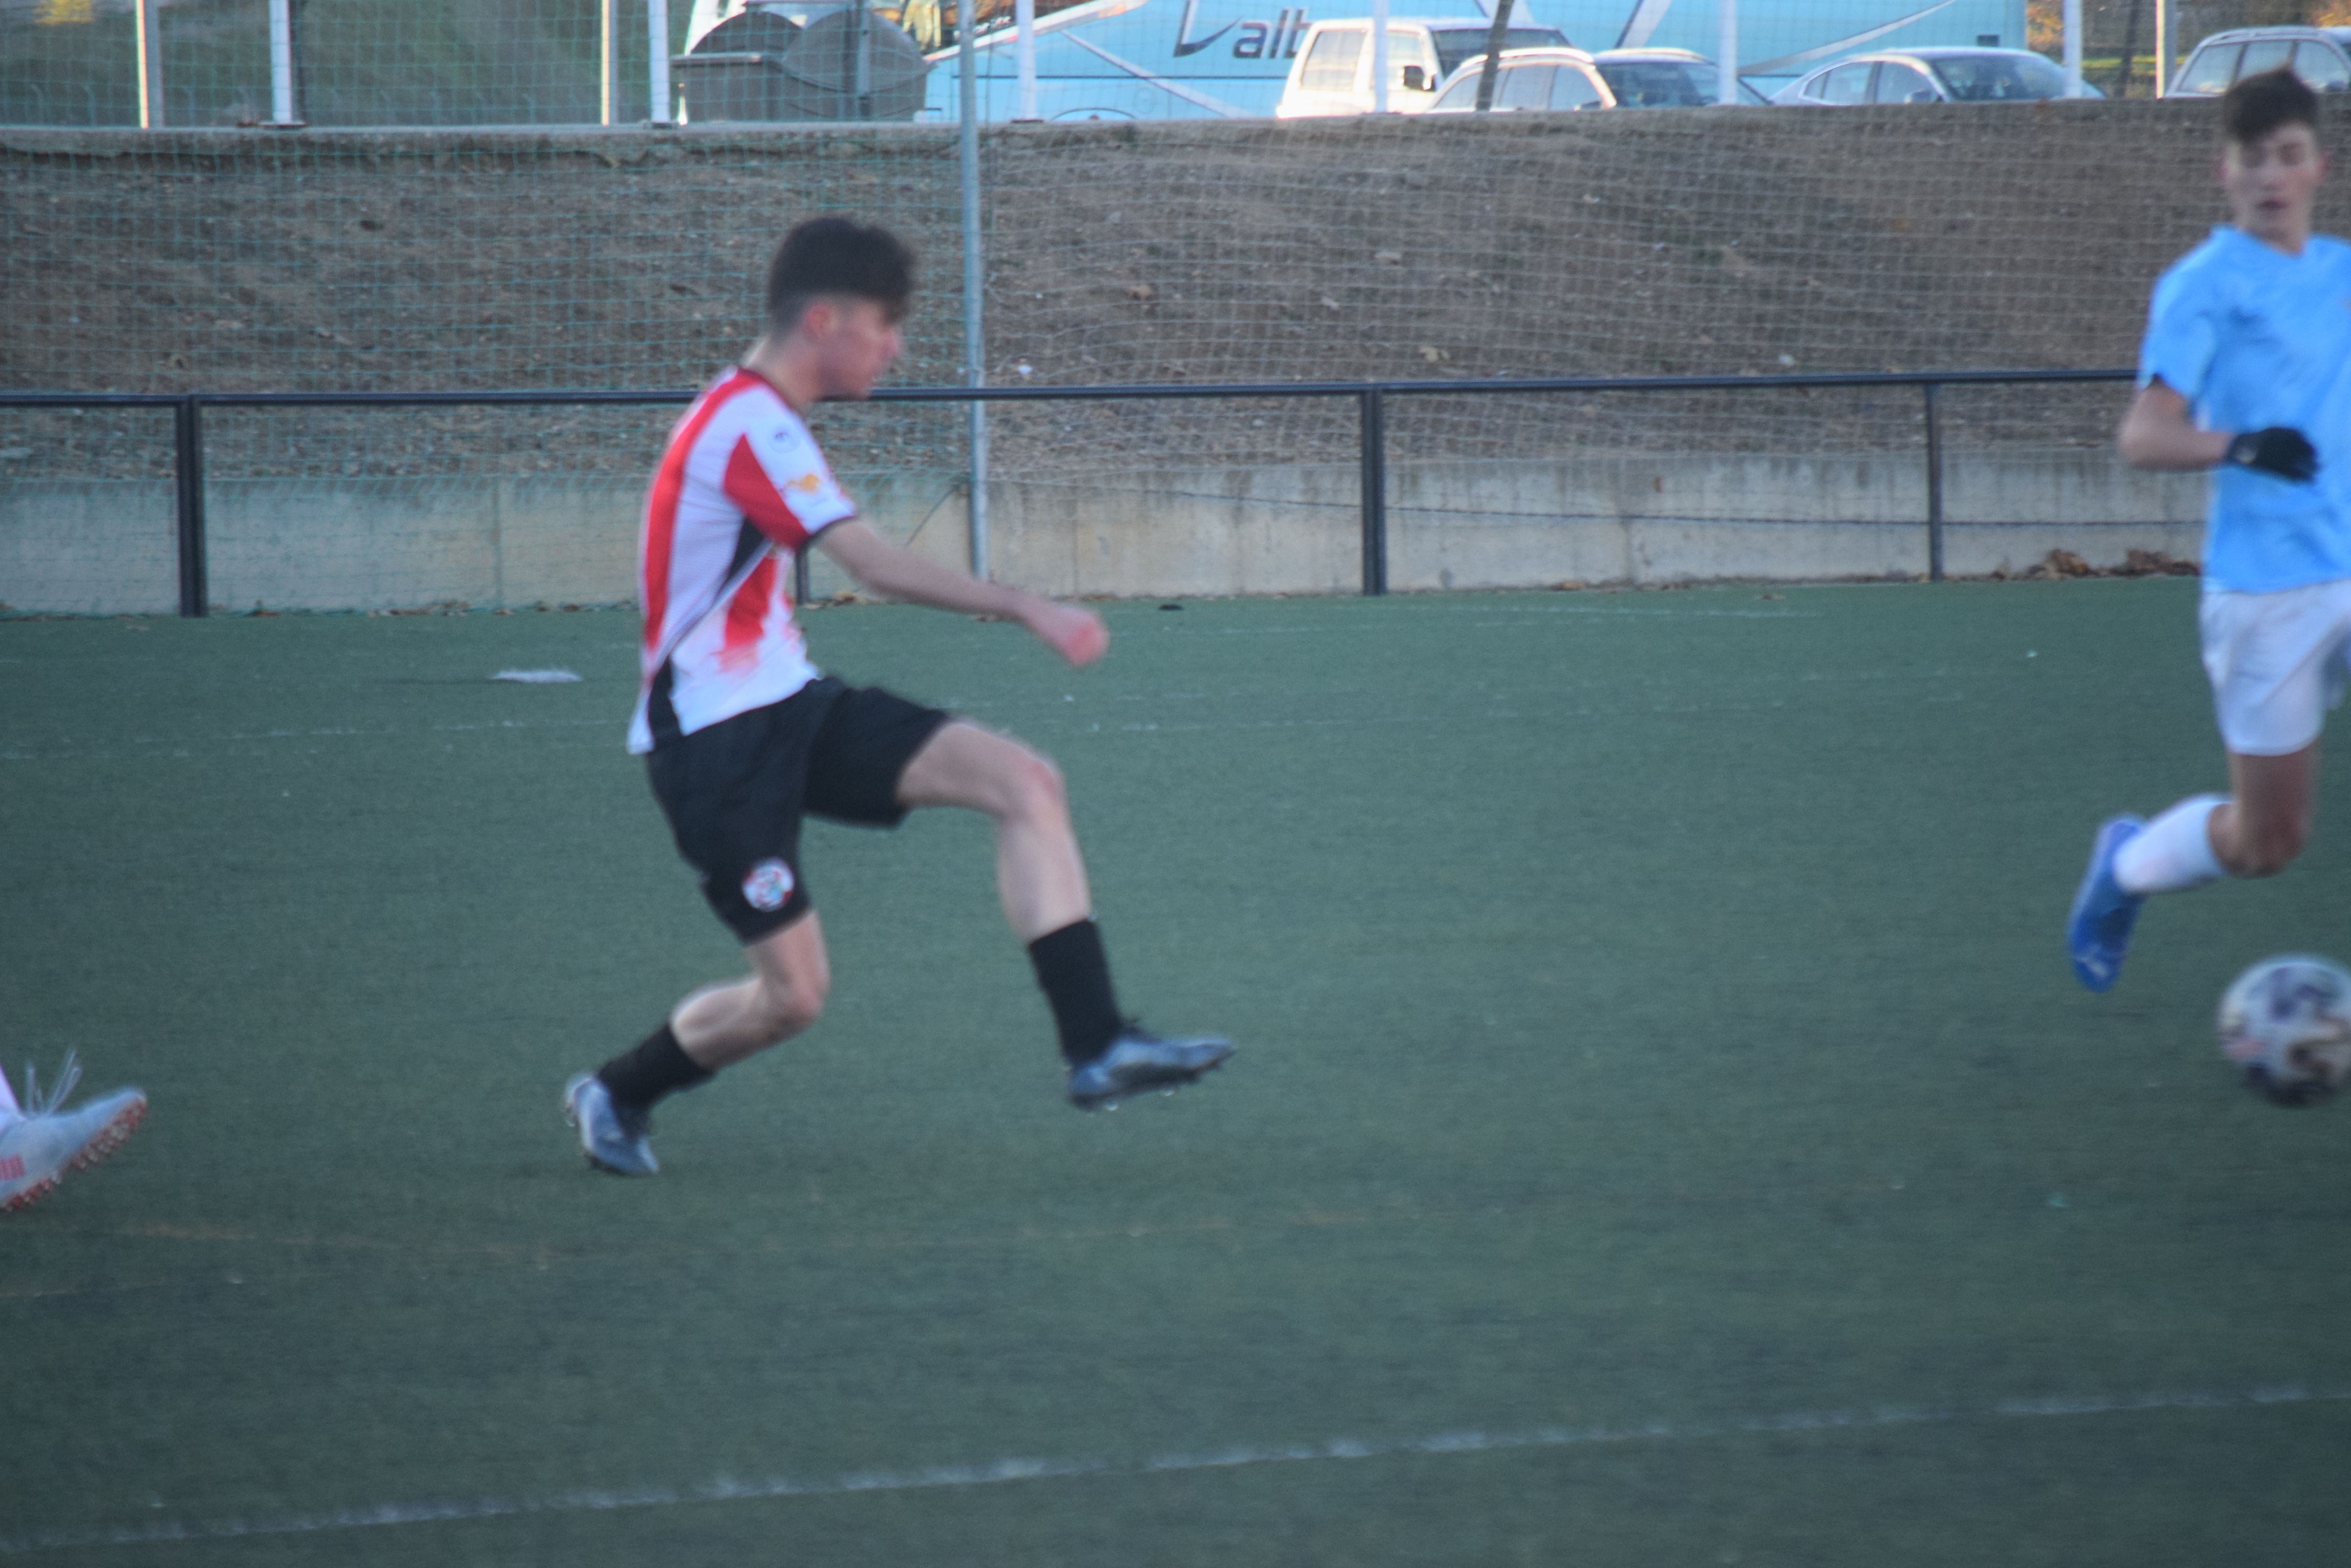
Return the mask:
<svg viewBox="0 0 2351 1568">
<path fill-rule="evenodd" d="M 649 752 L 656 733 L 691 736 L 816 679 L 792 623 L 790 564 L 853 515 L 809 425 L 764 376 L 736 369 L 694 400 L 644 498 L 642 686 L 628 750 Z"/>
</svg>

